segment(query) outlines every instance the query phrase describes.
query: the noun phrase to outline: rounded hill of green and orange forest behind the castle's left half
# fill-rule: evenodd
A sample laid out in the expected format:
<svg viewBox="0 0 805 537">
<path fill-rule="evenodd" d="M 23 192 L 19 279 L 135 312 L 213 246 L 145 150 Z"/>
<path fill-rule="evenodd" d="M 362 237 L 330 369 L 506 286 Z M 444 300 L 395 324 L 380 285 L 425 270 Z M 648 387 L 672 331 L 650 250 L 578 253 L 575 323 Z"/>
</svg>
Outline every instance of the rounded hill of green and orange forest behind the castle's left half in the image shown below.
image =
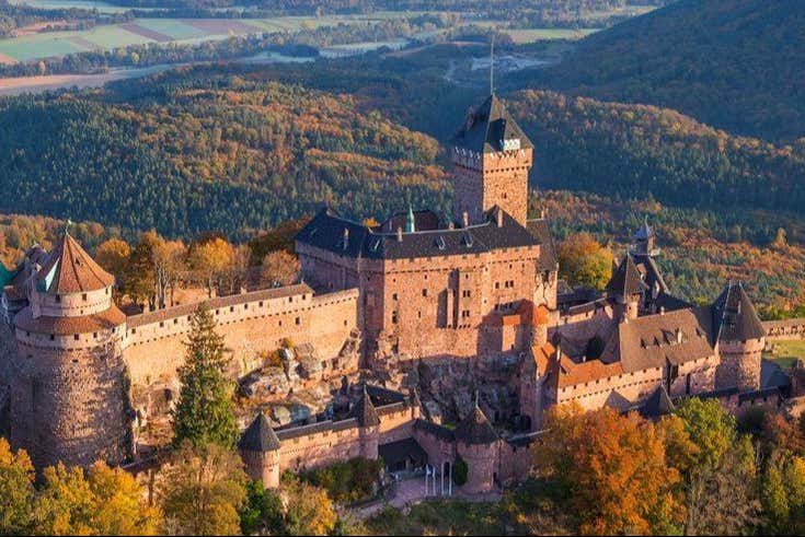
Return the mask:
<svg viewBox="0 0 805 537">
<path fill-rule="evenodd" d="M 0 103 L 0 210 L 235 236 L 322 202 L 444 206 L 437 142 L 353 97 L 196 69 L 117 87 Z"/>
</svg>

